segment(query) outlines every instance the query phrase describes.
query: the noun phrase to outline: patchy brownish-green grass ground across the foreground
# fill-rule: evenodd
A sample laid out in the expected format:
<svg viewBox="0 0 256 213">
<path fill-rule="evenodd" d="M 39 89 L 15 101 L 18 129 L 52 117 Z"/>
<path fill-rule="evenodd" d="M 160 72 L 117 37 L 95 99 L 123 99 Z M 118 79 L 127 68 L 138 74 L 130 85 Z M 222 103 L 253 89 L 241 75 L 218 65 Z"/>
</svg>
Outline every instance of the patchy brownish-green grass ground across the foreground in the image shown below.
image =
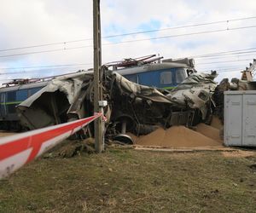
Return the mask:
<svg viewBox="0 0 256 213">
<path fill-rule="evenodd" d="M 256 152 L 42 158 L 0 181 L 0 212 L 255 212 Z"/>
</svg>

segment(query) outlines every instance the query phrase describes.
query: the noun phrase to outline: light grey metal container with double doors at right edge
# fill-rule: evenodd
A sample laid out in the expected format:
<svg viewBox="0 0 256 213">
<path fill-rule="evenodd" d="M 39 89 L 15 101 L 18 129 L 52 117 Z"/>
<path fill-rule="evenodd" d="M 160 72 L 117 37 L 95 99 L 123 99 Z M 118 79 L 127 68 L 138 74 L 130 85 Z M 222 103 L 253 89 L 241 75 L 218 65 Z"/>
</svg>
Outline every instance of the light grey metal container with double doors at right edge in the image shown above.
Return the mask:
<svg viewBox="0 0 256 213">
<path fill-rule="evenodd" d="M 256 90 L 224 92 L 224 145 L 256 147 Z"/>
</svg>

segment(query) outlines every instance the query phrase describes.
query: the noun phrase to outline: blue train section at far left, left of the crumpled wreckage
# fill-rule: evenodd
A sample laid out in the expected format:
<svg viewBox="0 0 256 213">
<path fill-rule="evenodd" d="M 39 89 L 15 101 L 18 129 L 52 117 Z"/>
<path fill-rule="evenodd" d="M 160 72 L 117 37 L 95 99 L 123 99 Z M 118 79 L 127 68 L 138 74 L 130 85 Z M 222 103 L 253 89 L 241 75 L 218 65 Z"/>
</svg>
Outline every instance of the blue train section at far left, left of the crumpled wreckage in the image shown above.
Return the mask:
<svg viewBox="0 0 256 213">
<path fill-rule="evenodd" d="M 16 80 L 6 84 L 6 87 L 0 88 L 0 130 L 20 130 L 15 107 L 42 89 L 47 82 L 25 83 L 24 80 Z"/>
</svg>

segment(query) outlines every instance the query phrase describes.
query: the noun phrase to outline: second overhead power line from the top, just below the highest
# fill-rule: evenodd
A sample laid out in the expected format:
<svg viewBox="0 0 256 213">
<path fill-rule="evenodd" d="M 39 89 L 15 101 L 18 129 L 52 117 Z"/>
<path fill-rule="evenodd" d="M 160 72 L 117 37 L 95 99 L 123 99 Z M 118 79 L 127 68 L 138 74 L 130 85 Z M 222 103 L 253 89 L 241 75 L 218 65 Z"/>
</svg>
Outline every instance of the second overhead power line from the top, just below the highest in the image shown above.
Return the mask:
<svg viewBox="0 0 256 213">
<path fill-rule="evenodd" d="M 102 45 L 107 46 L 107 45 L 114 45 L 114 44 L 119 44 L 119 43 L 137 43 L 137 42 L 143 42 L 143 41 L 149 41 L 149 40 L 166 39 L 166 38 L 171 38 L 171 37 L 183 37 L 183 36 L 199 35 L 199 34 L 206 34 L 206 33 L 212 33 L 212 32 L 226 32 L 226 31 L 242 30 L 242 29 L 253 28 L 253 27 L 256 27 L 256 26 L 241 26 L 241 27 L 227 28 L 227 29 L 222 29 L 222 30 L 213 30 L 213 31 L 205 31 L 205 32 L 191 32 L 191 33 L 170 35 L 170 36 L 165 36 L 165 37 L 150 37 L 150 38 L 143 38 L 143 39 L 136 39 L 136 40 L 121 41 L 121 42 L 116 42 L 116 43 L 102 43 Z M 63 49 L 49 49 L 49 50 L 34 51 L 34 52 L 27 52 L 27 53 L 20 53 L 20 54 L 12 54 L 12 55 L 0 55 L 0 58 L 13 57 L 13 56 L 18 56 L 18 55 L 33 55 L 33 54 L 57 52 L 57 51 L 63 51 L 63 50 L 69 50 L 69 49 L 83 49 L 83 48 L 92 48 L 92 45 L 85 45 L 85 46 L 72 47 L 72 48 L 64 47 Z"/>
</svg>

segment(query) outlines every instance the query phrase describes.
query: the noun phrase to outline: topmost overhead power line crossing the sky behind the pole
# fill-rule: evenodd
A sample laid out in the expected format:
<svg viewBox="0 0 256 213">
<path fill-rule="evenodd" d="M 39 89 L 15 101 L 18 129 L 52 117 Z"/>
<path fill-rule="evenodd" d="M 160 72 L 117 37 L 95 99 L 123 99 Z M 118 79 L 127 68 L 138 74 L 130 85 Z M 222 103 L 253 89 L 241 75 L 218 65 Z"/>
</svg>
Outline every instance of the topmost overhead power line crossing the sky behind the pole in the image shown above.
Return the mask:
<svg viewBox="0 0 256 213">
<path fill-rule="evenodd" d="M 163 29 L 155 29 L 155 30 L 149 30 L 149 31 L 128 32 L 128 33 L 122 33 L 122 34 L 116 34 L 116 35 L 103 36 L 103 38 L 125 37 L 125 36 L 145 34 L 145 33 L 151 33 L 151 32 L 163 32 L 163 31 L 183 29 L 183 28 L 188 28 L 188 27 L 208 26 L 208 25 L 215 25 L 215 24 L 220 24 L 220 23 L 230 23 L 230 22 L 238 21 L 238 20 L 252 20 L 252 19 L 256 19 L 256 16 L 250 16 L 250 17 L 245 17 L 245 18 L 240 18 L 240 19 L 218 20 L 218 21 L 197 23 L 197 24 L 186 25 L 186 26 L 172 26 L 172 27 L 167 27 L 167 28 L 163 28 Z M 66 41 L 66 42 L 42 43 L 42 44 L 35 44 L 35 45 L 10 48 L 10 49 L 0 49 L 0 52 L 18 50 L 18 49 L 32 49 L 32 48 L 47 47 L 47 46 L 54 46 L 54 45 L 61 45 L 61 44 L 65 45 L 67 43 L 79 43 L 79 42 L 91 41 L 91 40 L 92 40 L 92 38 L 90 37 L 90 38 L 85 38 L 85 39 L 70 40 L 70 41 Z"/>
</svg>

